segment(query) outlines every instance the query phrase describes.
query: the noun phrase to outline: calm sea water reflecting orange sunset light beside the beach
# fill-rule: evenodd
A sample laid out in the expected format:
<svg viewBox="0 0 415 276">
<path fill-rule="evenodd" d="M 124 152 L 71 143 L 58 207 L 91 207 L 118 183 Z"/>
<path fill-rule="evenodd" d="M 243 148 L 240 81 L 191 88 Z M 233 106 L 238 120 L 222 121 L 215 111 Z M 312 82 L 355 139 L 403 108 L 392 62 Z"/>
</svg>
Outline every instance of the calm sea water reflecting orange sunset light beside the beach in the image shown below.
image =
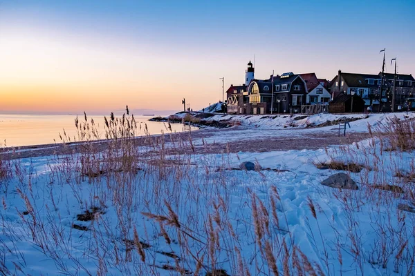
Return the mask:
<svg viewBox="0 0 415 276">
<path fill-rule="evenodd" d="M 5 146 L 5 140 L 6 146 L 53 144 L 55 141 L 60 143 L 59 133 L 63 136 L 64 130 L 72 140 L 74 136 L 77 136 L 75 117 L 76 115 L 0 115 L 0 146 Z M 88 117 L 88 119 L 91 118 L 98 126 L 101 139 L 105 139 L 104 116 Z M 151 135 L 170 132 L 170 130 L 166 130 L 165 124 L 148 121 L 151 118 L 149 116 L 135 116 L 135 118 L 137 124 L 142 127 L 141 130 L 138 130 L 138 136 L 145 135 L 145 124 L 147 124 Z M 83 120 L 83 115 L 79 119 Z M 192 130 L 195 129 L 192 128 Z M 189 130 L 189 128 L 183 128 L 182 124 L 172 124 L 172 130 L 173 132 L 182 132 Z"/>
</svg>

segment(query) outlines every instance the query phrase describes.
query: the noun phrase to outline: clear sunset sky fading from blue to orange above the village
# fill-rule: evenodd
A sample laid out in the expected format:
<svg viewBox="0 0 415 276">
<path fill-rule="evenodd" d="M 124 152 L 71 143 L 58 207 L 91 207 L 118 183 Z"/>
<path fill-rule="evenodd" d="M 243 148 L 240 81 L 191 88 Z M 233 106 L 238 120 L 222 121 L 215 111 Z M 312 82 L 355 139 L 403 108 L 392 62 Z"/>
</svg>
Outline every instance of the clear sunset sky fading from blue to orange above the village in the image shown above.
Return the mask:
<svg viewBox="0 0 415 276">
<path fill-rule="evenodd" d="M 273 70 L 415 73 L 415 1 L 0 0 L 0 113 L 199 110 Z"/>
</svg>

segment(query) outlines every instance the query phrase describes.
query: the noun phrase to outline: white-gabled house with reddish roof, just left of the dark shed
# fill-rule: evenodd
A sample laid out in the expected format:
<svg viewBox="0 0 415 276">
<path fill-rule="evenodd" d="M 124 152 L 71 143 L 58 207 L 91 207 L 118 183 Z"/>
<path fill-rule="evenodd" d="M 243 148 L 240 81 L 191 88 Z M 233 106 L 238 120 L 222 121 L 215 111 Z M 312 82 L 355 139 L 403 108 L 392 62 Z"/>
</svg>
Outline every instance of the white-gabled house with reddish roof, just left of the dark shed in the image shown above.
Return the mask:
<svg viewBox="0 0 415 276">
<path fill-rule="evenodd" d="M 329 84 L 328 81 L 317 79 L 315 73 L 299 74 L 299 77 L 306 83 L 306 104 L 329 104 L 329 101 L 331 101 L 331 94 L 326 88 Z"/>
</svg>

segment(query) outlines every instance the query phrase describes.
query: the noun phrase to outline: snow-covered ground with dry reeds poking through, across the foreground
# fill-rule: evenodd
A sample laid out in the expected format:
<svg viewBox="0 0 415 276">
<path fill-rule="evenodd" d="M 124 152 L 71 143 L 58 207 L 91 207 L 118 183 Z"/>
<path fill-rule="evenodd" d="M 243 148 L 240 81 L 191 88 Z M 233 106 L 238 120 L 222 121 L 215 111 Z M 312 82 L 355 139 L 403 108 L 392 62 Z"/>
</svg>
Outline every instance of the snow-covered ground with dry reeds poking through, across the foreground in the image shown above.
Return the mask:
<svg viewBox="0 0 415 276">
<path fill-rule="evenodd" d="M 359 116 L 363 119 L 351 122 L 350 131 L 367 132 L 368 124 L 376 129 L 394 115 L 348 115 Z M 414 119 L 413 113 L 396 116 Z M 219 134 L 192 142 L 160 139 L 151 146 L 158 155 L 151 157 L 145 155 L 149 148 L 125 144 L 104 153 L 3 162 L 0 171 L 14 177 L 0 177 L 0 271 L 413 275 L 412 150 L 391 150 L 387 138 L 374 135 L 317 150 L 169 155 L 169 148 L 230 139 L 333 132 L 336 126 L 305 127 L 339 117 L 215 115 L 210 119 L 239 120 L 243 128 L 224 137 L 212 130 Z M 238 170 L 243 161 L 263 170 Z M 342 171 L 323 168 L 335 162 L 359 166 L 360 172 L 343 170 L 358 190 L 320 184 Z M 375 188 L 386 185 L 401 190 Z"/>
</svg>

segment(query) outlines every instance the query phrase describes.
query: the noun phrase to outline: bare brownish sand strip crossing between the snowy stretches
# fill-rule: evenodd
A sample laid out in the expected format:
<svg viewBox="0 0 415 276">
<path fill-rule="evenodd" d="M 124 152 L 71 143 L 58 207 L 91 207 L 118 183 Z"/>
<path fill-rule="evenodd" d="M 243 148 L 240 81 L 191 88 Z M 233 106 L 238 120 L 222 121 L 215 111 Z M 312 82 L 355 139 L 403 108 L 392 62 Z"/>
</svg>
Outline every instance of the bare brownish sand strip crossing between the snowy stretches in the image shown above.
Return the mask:
<svg viewBox="0 0 415 276">
<path fill-rule="evenodd" d="M 316 131 L 317 130 L 317 131 Z M 335 128 L 327 128 L 318 131 L 318 128 L 264 130 L 255 128 L 223 128 L 202 129 L 192 132 L 180 132 L 165 135 L 164 139 L 169 144 L 171 139 L 181 140 L 189 144 L 192 137 L 194 150 L 189 146 L 185 150 L 196 154 L 222 153 L 222 152 L 267 152 L 274 150 L 302 150 L 318 149 L 331 145 L 351 144 L 369 137 L 367 133 L 348 133 L 346 137 L 338 137 Z M 151 137 L 137 137 L 134 139 L 136 146 L 151 146 L 163 137 L 154 135 Z M 108 141 L 94 142 L 98 150 L 107 148 Z M 82 143 L 48 144 L 38 146 L 22 146 L 20 148 L 5 148 L 0 153 L 1 159 L 19 159 L 42 157 L 49 155 L 65 155 L 73 152 L 82 152 Z M 149 150 L 149 153 L 151 149 Z M 152 152 L 156 153 L 156 152 Z M 174 154 L 174 150 L 171 152 Z"/>
</svg>

